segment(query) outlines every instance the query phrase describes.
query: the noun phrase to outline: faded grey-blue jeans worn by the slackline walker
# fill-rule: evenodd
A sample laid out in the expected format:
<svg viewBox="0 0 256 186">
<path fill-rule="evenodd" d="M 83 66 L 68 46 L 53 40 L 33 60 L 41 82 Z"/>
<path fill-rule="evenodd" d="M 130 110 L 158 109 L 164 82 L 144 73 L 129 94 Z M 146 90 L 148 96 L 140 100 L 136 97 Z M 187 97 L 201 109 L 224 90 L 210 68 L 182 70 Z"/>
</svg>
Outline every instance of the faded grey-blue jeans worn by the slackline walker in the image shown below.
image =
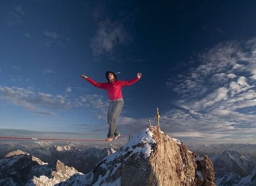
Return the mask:
<svg viewBox="0 0 256 186">
<path fill-rule="evenodd" d="M 113 136 L 118 136 L 120 133 L 117 130 L 117 118 L 124 106 L 124 100 L 122 98 L 110 100 L 109 110 L 108 110 L 108 123 L 109 123 L 109 133 L 108 138 L 113 138 Z"/>
</svg>

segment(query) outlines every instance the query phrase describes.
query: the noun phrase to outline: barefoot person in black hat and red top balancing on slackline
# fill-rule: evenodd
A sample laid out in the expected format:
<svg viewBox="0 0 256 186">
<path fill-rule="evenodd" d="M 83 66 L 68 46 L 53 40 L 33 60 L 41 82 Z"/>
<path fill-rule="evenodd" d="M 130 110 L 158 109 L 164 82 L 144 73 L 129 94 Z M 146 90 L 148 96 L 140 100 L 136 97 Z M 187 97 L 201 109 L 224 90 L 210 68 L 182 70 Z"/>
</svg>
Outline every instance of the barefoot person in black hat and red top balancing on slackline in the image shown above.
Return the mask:
<svg viewBox="0 0 256 186">
<path fill-rule="evenodd" d="M 124 100 L 122 96 L 122 86 L 129 86 L 136 83 L 142 74 L 139 72 L 137 77 L 129 80 L 129 81 L 120 81 L 117 80 L 116 74 L 114 72 L 107 71 L 106 72 L 106 79 L 108 80 L 107 83 L 98 83 L 87 77 L 86 75 L 82 74 L 81 78 L 86 79 L 95 87 L 99 87 L 105 89 L 109 96 L 109 110 L 108 110 L 108 123 L 109 123 L 109 133 L 106 138 L 106 141 L 112 141 L 113 139 L 117 139 L 120 136 L 120 133 L 117 129 L 117 118 L 124 106 Z M 114 136 L 114 138 L 113 138 Z"/>
</svg>

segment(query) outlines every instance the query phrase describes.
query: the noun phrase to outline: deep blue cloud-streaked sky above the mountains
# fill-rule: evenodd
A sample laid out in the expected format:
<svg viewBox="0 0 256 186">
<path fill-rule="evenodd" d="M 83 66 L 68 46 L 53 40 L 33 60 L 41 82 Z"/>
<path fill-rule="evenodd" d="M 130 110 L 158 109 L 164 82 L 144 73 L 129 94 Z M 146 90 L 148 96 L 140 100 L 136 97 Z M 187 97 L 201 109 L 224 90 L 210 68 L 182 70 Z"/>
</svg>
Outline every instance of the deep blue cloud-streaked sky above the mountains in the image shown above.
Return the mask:
<svg viewBox="0 0 256 186">
<path fill-rule="evenodd" d="M 0 135 L 104 139 L 109 100 L 80 78 L 121 72 L 121 134 L 255 143 L 256 3 L 1 1 Z"/>
</svg>

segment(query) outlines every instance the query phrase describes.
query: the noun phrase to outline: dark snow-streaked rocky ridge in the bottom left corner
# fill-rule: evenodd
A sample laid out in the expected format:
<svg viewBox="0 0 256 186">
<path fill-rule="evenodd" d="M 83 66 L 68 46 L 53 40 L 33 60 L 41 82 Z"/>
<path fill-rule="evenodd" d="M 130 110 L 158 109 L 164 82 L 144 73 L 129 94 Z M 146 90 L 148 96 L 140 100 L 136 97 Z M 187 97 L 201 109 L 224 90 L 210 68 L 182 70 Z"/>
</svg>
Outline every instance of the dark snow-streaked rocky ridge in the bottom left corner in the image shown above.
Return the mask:
<svg viewBox="0 0 256 186">
<path fill-rule="evenodd" d="M 0 160 L 0 185 L 52 186 L 78 173 L 60 161 L 44 163 L 21 150 L 10 152 Z"/>
</svg>

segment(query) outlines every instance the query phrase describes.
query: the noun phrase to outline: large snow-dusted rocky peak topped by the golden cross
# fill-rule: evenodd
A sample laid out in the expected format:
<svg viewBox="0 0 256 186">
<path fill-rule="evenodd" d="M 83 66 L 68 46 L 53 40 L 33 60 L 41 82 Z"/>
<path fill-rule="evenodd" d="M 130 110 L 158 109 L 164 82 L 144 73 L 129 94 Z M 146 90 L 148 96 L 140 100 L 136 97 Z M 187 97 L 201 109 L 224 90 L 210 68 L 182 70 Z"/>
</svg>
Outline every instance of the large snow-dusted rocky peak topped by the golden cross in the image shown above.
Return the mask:
<svg viewBox="0 0 256 186">
<path fill-rule="evenodd" d="M 197 157 L 157 127 L 134 136 L 86 175 L 76 174 L 62 185 L 214 186 L 211 160 Z"/>
</svg>

